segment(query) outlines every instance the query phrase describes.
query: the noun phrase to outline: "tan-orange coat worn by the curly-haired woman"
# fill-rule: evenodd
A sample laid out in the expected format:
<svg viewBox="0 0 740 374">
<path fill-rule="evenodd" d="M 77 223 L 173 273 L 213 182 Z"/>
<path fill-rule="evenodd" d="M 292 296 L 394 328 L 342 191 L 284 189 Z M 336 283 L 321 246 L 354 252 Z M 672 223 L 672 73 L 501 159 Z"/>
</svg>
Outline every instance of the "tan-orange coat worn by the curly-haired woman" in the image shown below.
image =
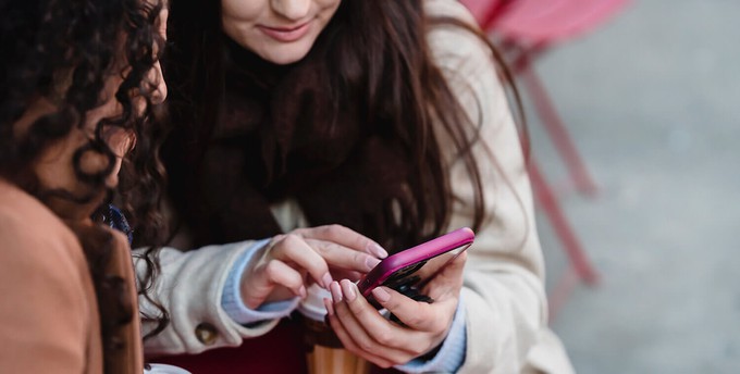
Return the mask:
<svg viewBox="0 0 740 374">
<path fill-rule="evenodd" d="M 126 238 L 114 233 L 109 273 L 128 284 Z M 0 178 L 0 373 L 102 373 L 95 288 L 77 237 L 46 205 Z M 126 327 L 115 373 L 141 373 L 137 319 Z"/>
</svg>

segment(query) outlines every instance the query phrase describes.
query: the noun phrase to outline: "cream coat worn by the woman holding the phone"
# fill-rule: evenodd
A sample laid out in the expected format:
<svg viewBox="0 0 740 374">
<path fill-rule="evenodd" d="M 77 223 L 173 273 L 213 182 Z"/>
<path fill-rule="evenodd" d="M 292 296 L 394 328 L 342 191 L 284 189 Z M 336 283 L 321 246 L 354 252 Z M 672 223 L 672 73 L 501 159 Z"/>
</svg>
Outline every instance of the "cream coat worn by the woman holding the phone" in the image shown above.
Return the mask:
<svg viewBox="0 0 740 374">
<path fill-rule="evenodd" d="M 454 0 L 428 0 L 427 11 L 474 25 L 472 16 Z M 481 141 L 473 153 L 482 171 L 491 219 L 476 233 L 476 242 L 468 252 L 462 289 L 467 352 L 459 372 L 571 373 L 563 346 L 547 328 L 544 264 L 529 178 L 517 129 L 490 52 L 476 36 L 455 27 L 432 30 L 429 42 L 469 117 L 482 121 Z M 439 137 L 442 145 L 448 144 L 443 134 Z M 454 229 L 471 222 L 473 194 L 465 166 L 453 161 L 452 150 L 447 150 L 457 198 L 449 226 Z M 307 225 L 295 204 L 274 207 L 273 212 L 283 229 Z M 150 351 L 194 353 L 237 346 L 243 338 L 274 327 L 276 321 L 257 328 L 239 326 L 220 308 L 226 273 L 249 245 L 213 246 L 186 253 L 173 249 L 163 251 L 163 278 L 157 294 L 171 309 L 172 326 L 148 341 Z M 203 342 L 199 332 L 201 323 L 217 331 L 208 342 Z"/>
</svg>

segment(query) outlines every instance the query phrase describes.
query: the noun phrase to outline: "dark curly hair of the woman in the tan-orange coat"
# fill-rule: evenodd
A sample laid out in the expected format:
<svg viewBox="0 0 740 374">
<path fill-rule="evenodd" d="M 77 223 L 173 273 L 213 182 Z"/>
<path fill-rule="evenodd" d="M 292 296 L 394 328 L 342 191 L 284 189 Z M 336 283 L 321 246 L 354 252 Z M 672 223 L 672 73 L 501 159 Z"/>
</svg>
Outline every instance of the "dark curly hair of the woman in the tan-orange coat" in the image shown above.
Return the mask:
<svg viewBox="0 0 740 374">
<path fill-rule="evenodd" d="M 37 197 L 62 220 L 66 213 L 50 201 L 79 207 L 115 201 L 136 230 L 149 238 L 162 230 L 158 211 L 163 167 L 157 154 L 165 129 L 156 121 L 157 82 L 150 75 L 163 50 L 157 33 L 162 7 L 156 0 L 0 1 L 0 176 Z M 85 127 L 86 113 L 102 104 L 106 83 L 115 75 L 123 79 L 115 91 L 122 113 L 99 121 L 94 136 L 70 160 L 85 192 L 45 188 L 33 172 L 34 163 L 50 145 Z M 39 99 L 52 102 L 55 110 L 20 130 L 16 122 Z M 137 142 L 124 159 L 121 183 L 108 188 L 115 154 L 106 134 L 116 127 L 133 133 Z M 83 170 L 82 159 L 88 152 L 107 157 L 108 167 Z M 83 228 L 65 222 L 87 257 L 101 316 L 104 369 L 111 372 L 110 358 L 121 349 L 121 327 L 137 314 L 124 296 L 122 279 L 106 273 L 111 233 L 102 223 Z"/>
</svg>

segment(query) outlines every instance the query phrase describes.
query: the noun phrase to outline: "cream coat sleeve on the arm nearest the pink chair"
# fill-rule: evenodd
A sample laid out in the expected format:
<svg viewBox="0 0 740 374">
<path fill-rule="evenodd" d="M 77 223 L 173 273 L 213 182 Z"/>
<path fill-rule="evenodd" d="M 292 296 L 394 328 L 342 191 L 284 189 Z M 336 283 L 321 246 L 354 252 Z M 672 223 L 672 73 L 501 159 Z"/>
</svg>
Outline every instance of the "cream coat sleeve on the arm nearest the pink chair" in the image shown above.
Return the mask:
<svg viewBox="0 0 740 374">
<path fill-rule="evenodd" d="M 432 15 L 474 24 L 454 1 L 430 0 L 429 4 Z M 543 336 L 559 342 L 546 326 L 544 264 L 518 130 L 492 53 L 482 40 L 460 27 L 441 26 L 430 32 L 429 42 L 464 112 L 477 127 L 479 138 L 471 152 L 479 166 L 486 212 L 486 221 L 468 250 L 464 275 L 467 349 L 460 373 L 520 373 L 527 371 L 529 356 Z M 437 138 L 451 164 L 455 197 L 451 228 L 457 228 L 472 222 L 473 185 L 464 162 L 445 147 L 451 141 L 442 133 L 437 132 Z M 562 347 L 555 350 L 565 362 L 556 372 L 569 372 Z"/>
</svg>

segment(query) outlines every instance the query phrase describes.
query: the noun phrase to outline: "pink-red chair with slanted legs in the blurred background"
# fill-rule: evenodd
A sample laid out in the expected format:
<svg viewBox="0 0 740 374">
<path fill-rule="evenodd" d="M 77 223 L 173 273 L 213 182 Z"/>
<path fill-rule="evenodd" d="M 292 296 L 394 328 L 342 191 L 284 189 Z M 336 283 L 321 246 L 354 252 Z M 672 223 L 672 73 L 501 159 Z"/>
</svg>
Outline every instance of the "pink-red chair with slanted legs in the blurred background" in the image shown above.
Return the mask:
<svg viewBox="0 0 740 374">
<path fill-rule="evenodd" d="M 557 42 L 582 35 L 607 21 L 622 9 L 627 0 L 460 0 L 491 35 L 508 60 L 513 72 L 520 77 L 532 103 L 563 155 L 571 179 L 579 191 L 593 195 L 596 185 L 583 165 L 555 107 L 532 68 L 533 60 Z M 595 284 L 597 274 L 589 261 L 578 237 L 563 214 L 553 189 L 543 177 L 534 160 L 529 165 L 534 196 L 570 259 L 578 277 Z M 572 287 L 571 277 L 560 282 L 555 295 Z"/>
</svg>

